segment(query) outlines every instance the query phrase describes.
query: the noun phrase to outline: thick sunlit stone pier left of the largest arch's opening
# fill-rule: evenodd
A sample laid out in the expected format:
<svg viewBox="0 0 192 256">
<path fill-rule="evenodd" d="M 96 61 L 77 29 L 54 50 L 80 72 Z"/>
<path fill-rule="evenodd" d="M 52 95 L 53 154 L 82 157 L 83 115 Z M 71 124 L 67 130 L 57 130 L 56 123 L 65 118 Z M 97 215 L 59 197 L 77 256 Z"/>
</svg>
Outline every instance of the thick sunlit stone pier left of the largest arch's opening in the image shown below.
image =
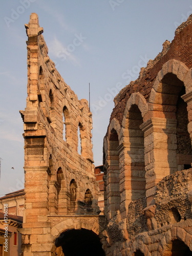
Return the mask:
<svg viewBox="0 0 192 256">
<path fill-rule="evenodd" d="M 153 204 L 156 184 L 177 171 L 177 120 L 151 118 L 140 125 L 144 132 L 147 206 Z"/>
</svg>

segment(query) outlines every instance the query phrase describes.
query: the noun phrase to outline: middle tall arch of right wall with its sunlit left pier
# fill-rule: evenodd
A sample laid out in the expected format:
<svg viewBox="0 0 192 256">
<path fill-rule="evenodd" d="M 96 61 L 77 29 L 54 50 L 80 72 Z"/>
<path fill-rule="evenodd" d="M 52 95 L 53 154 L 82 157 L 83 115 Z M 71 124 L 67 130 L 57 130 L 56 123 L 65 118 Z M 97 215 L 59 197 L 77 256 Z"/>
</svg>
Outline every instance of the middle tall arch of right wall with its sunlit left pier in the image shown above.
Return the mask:
<svg viewBox="0 0 192 256">
<path fill-rule="evenodd" d="M 145 197 L 144 133 L 140 125 L 147 112 L 145 98 L 140 93 L 133 93 L 124 110 L 119 149 L 122 163 L 120 190 L 124 194 L 121 209 L 125 215 L 132 200 Z"/>
</svg>

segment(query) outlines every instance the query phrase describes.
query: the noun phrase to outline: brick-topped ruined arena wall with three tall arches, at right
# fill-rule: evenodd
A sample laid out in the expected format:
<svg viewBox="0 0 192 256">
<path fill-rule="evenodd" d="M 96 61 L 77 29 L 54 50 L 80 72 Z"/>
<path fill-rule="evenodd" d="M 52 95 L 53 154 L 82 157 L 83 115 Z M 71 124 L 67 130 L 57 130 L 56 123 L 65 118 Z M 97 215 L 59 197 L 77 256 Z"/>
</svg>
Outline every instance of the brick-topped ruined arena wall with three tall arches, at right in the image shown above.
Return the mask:
<svg viewBox="0 0 192 256">
<path fill-rule="evenodd" d="M 114 99 L 103 143 L 106 255 L 192 253 L 191 36 L 192 15 Z"/>
</svg>

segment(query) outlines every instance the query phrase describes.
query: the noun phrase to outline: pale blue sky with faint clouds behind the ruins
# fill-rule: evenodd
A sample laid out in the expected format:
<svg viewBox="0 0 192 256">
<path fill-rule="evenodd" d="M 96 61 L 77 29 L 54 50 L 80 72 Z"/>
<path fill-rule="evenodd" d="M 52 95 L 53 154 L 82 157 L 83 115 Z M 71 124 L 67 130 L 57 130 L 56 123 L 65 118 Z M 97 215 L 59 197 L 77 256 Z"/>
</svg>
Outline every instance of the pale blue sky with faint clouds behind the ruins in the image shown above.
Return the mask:
<svg viewBox="0 0 192 256">
<path fill-rule="evenodd" d="M 102 164 L 114 96 L 192 13 L 191 0 L 7 0 L 1 6 L 0 196 L 23 188 L 19 110 L 26 106 L 24 25 L 32 12 L 44 28 L 50 58 L 79 99 L 89 99 L 90 83 L 95 165 Z"/>
</svg>

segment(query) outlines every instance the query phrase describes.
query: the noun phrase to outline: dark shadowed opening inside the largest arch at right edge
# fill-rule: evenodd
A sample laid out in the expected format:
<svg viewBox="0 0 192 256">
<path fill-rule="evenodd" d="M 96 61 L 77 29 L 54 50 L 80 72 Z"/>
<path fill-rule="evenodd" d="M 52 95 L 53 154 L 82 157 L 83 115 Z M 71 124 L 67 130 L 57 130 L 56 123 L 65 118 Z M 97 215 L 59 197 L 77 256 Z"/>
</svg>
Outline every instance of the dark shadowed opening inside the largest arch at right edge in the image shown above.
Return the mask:
<svg viewBox="0 0 192 256">
<path fill-rule="evenodd" d="M 167 73 L 159 89 L 161 89 L 162 108 L 166 118 L 164 134 L 167 137 L 167 160 L 165 159 L 167 172 L 165 174 L 170 175 L 184 169 L 184 165 L 189 167 L 192 160 L 191 140 L 187 130 L 187 104 L 182 99 L 185 87 L 183 81 L 175 74 Z"/>
</svg>

